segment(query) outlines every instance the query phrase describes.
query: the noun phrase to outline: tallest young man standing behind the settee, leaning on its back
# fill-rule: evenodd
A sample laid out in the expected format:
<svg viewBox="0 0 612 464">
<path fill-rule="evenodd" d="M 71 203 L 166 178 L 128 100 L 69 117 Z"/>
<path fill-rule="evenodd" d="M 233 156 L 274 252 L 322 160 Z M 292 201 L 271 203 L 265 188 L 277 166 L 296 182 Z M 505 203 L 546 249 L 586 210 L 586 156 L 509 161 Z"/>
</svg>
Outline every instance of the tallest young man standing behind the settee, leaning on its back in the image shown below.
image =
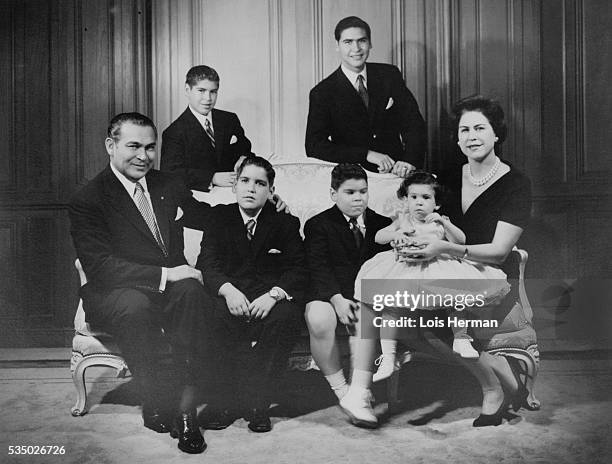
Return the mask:
<svg viewBox="0 0 612 464">
<path fill-rule="evenodd" d="M 422 167 L 425 122 L 400 71 L 366 65 L 372 45 L 362 19 L 342 19 L 334 35 L 342 62 L 310 91 L 307 156 L 402 177 Z"/>
</svg>

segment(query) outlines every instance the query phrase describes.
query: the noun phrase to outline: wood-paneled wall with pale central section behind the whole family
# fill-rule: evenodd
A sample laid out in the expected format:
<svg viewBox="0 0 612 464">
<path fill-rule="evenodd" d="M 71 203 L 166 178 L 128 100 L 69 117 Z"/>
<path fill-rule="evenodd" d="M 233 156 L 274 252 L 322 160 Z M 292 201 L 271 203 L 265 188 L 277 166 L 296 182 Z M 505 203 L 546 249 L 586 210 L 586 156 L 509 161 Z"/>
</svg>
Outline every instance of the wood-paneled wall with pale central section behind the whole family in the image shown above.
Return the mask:
<svg viewBox="0 0 612 464">
<path fill-rule="evenodd" d="M 67 343 L 77 278 L 66 203 L 106 163 L 113 114 L 160 131 L 196 64 L 254 150 L 304 157 L 308 92 L 338 65 L 333 28 L 372 26 L 371 61 L 400 67 L 428 124 L 432 169 L 460 163 L 453 101 L 506 109 L 503 155 L 534 184 L 523 239 L 535 277 L 610 277 L 612 142 L 605 0 L 3 0 L 0 16 L 0 345 Z"/>
</svg>

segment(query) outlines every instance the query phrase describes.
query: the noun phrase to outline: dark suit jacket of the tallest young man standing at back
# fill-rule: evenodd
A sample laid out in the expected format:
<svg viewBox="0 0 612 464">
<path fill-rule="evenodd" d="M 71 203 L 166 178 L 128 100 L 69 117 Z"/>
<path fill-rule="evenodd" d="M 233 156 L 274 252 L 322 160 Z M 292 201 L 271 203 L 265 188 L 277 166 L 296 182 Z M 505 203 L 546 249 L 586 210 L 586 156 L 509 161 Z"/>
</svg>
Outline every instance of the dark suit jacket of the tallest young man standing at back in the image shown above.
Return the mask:
<svg viewBox="0 0 612 464">
<path fill-rule="evenodd" d="M 377 172 L 366 161 L 368 150 L 374 150 L 422 167 L 425 121 L 399 69 L 368 63 L 367 74 L 367 109 L 340 67 L 310 91 L 306 155 Z"/>
</svg>

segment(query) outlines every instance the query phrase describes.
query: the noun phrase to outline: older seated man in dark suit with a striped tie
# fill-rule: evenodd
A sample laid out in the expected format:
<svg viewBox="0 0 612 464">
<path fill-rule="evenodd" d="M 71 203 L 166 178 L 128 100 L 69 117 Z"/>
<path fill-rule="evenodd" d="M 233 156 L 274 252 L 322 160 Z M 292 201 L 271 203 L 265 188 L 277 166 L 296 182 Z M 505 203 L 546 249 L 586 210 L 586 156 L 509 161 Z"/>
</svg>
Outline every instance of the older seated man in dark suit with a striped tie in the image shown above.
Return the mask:
<svg viewBox="0 0 612 464">
<path fill-rule="evenodd" d="M 173 436 L 187 453 L 206 447 L 195 416 L 194 369 L 206 298 L 202 273 L 183 255 L 183 221 L 202 228 L 208 205 L 177 176 L 151 169 L 157 130 L 138 113 L 115 116 L 105 141 L 109 166 L 69 204 L 71 234 L 88 282 L 81 288 L 87 321 L 110 333 L 142 384 L 143 419 L 157 432 L 171 428 L 158 378 L 161 327 L 166 330 L 182 387 Z M 186 223 L 187 225 L 187 223 Z"/>
</svg>

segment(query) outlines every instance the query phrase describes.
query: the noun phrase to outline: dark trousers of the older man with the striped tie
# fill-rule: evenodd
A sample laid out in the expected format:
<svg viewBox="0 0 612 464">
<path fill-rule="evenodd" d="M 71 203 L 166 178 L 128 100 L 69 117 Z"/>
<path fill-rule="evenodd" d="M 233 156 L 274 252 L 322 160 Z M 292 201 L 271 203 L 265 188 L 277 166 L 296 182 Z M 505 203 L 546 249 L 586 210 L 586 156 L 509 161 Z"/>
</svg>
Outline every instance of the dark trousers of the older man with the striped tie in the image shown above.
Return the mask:
<svg viewBox="0 0 612 464">
<path fill-rule="evenodd" d="M 169 282 L 164 293 L 118 288 L 84 295 L 88 322 L 116 339 L 130 370 L 142 382 L 145 401 L 159 400 L 165 393 L 158 376 L 163 369 L 161 329 L 172 347 L 178 382 L 194 384 L 200 377 L 205 301 L 204 287 L 195 279 Z"/>
</svg>

